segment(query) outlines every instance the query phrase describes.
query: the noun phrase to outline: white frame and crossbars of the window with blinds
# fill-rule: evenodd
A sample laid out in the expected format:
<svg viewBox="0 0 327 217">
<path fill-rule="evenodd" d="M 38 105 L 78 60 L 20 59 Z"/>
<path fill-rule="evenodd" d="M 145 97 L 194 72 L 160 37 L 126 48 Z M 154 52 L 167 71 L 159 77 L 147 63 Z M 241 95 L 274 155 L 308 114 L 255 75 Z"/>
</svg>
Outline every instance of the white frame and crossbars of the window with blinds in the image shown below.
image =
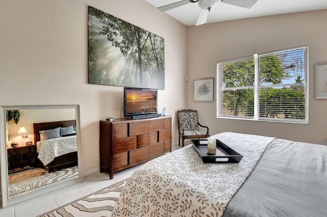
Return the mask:
<svg viewBox="0 0 327 217">
<path fill-rule="evenodd" d="M 281 53 L 281 52 L 286 52 L 286 51 L 291 51 L 295 49 L 304 49 L 305 53 L 305 58 L 304 58 L 304 80 L 303 83 L 293 83 L 293 84 L 270 84 L 270 85 L 262 85 L 260 84 L 260 70 L 259 70 L 259 58 L 261 56 L 266 56 L 270 54 L 276 54 L 276 53 Z M 229 87 L 229 88 L 224 88 L 223 86 L 223 73 L 222 67 L 223 64 L 226 63 L 233 63 L 233 62 L 238 62 L 238 61 L 243 61 L 243 60 L 254 60 L 254 84 L 253 86 L 242 86 L 242 87 Z M 246 56 L 242 58 L 237 58 L 237 59 L 231 59 L 231 60 L 226 60 L 226 61 L 219 61 L 217 62 L 217 83 L 216 83 L 216 91 L 217 91 L 217 118 L 223 118 L 223 119 L 239 119 L 239 120 L 253 120 L 253 121 L 271 121 L 271 122 L 285 122 L 285 123 L 301 123 L 301 124 L 308 124 L 309 122 L 309 45 L 301 45 L 301 46 L 296 46 L 296 47 L 290 47 L 290 48 L 285 48 L 285 49 L 279 49 L 279 50 L 274 50 L 274 51 L 269 51 L 269 52 L 264 52 L 264 53 L 254 53 L 251 56 Z M 259 110 L 260 110 L 260 89 L 263 88 L 271 88 L 271 87 L 292 87 L 292 86 L 297 86 L 298 84 L 301 84 L 302 87 L 304 87 L 303 93 L 305 94 L 305 118 L 304 119 L 284 119 L 284 118 L 263 118 L 259 117 Z M 222 114 L 223 111 L 223 92 L 226 90 L 240 90 L 240 89 L 254 89 L 254 109 L 253 109 L 253 117 L 239 117 L 239 116 L 226 116 Z"/>
</svg>

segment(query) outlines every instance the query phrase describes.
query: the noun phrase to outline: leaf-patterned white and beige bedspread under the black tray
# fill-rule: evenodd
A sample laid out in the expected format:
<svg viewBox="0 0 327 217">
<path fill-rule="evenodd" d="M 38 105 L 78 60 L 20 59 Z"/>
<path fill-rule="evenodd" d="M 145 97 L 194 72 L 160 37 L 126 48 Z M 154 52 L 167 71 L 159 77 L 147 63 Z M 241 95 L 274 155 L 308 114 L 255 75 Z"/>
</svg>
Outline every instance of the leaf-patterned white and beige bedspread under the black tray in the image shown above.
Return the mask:
<svg viewBox="0 0 327 217">
<path fill-rule="evenodd" d="M 222 216 L 274 138 L 232 132 L 210 138 L 243 159 L 238 164 L 204 164 L 192 145 L 155 158 L 127 181 L 113 216 Z"/>
</svg>

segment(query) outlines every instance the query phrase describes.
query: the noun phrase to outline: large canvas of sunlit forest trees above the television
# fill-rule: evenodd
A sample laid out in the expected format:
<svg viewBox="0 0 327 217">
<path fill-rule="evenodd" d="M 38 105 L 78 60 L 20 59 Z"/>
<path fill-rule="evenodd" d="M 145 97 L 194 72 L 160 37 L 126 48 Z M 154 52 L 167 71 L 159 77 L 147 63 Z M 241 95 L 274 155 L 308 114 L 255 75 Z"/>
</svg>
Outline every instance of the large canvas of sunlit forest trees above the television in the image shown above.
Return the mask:
<svg viewBox="0 0 327 217">
<path fill-rule="evenodd" d="M 89 6 L 88 83 L 164 90 L 164 38 Z"/>
</svg>

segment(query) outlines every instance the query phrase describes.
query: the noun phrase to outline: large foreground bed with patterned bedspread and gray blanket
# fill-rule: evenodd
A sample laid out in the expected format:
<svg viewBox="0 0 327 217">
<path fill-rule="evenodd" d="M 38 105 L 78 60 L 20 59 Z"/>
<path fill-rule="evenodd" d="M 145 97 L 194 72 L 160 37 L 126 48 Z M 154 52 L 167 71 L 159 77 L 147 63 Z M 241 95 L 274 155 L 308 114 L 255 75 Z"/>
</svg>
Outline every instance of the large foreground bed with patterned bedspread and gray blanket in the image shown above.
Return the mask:
<svg viewBox="0 0 327 217">
<path fill-rule="evenodd" d="M 327 216 L 327 146 L 224 132 L 244 157 L 204 164 L 192 145 L 147 162 L 113 216 Z"/>
</svg>

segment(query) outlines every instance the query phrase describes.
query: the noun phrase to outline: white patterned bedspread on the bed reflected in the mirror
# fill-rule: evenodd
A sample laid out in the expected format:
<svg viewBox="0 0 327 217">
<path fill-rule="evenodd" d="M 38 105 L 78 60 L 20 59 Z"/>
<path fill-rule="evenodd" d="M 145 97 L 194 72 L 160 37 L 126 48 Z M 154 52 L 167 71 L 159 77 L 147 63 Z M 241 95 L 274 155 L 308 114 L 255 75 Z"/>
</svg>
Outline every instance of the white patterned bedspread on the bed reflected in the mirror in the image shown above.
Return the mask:
<svg viewBox="0 0 327 217">
<path fill-rule="evenodd" d="M 38 158 L 44 166 L 48 165 L 55 157 L 77 151 L 77 137 L 60 137 L 40 142 Z"/>
</svg>

